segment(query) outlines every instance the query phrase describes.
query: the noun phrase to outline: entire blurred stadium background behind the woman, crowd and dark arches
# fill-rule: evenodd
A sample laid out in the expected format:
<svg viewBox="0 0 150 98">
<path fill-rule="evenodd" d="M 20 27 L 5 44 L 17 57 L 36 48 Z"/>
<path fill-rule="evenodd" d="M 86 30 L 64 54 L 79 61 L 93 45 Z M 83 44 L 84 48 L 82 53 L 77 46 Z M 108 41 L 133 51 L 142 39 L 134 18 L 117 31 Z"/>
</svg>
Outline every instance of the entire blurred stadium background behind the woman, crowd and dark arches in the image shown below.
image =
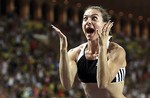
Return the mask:
<svg viewBox="0 0 150 98">
<path fill-rule="evenodd" d="M 50 24 L 73 48 L 85 42 L 89 5 L 107 9 L 113 41 L 127 52 L 124 94 L 150 98 L 150 0 L 0 0 L 0 98 L 84 98 L 80 84 L 69 91 L 60 84 L 59 39 Z"/>
</svg>

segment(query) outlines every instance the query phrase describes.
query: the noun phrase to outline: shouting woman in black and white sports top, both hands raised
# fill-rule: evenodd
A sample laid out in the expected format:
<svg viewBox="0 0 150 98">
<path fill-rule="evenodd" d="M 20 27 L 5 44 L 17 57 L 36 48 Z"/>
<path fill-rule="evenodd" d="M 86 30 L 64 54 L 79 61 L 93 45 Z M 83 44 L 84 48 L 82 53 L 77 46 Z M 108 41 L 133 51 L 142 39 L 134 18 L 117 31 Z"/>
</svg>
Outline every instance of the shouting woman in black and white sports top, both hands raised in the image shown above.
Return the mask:
<svg viewBox="0 0 150 98">
<path fill-rule="evenodd" d="M 60 38 L 60 80 L 70 89 L 76 78 L 87 98 L 125 98 L 123 95 L 126 53 L 110 42 L 113 26 L 109 15 L 99 6 L 90 6 L 83 15 L 82 29 L 87 42 L 67 52 L 67 38 L 55 26 Z"/>
</svg>

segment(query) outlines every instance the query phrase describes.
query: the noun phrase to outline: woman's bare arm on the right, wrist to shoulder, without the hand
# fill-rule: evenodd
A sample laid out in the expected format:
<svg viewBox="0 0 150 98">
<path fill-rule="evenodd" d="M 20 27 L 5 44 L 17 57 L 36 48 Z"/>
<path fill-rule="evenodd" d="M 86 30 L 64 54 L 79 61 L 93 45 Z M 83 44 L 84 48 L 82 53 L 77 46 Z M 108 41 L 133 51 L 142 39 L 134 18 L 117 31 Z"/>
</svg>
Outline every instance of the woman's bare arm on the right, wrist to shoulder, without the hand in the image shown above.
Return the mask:
<svg viewBox="0 0 150 98">
<path fill-rule="evenodd" d="M 99 54 L 97 63 L 97 81 L 99 88 L 106 88 L 115 78 L 121 67 L 126 66 L 126 53 L 121 47 L 117 47 L 110 53 L 110 58 L 107 60 L 107 49 L 102 48 Z"/>
</svg>

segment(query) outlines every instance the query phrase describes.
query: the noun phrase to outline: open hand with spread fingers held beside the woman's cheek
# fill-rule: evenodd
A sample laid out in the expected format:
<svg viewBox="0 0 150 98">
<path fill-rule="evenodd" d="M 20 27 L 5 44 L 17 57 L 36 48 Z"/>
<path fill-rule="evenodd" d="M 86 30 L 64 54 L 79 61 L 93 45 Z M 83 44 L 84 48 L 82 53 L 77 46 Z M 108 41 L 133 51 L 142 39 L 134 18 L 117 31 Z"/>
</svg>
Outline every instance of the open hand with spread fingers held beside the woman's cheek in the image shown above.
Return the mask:
<svg viewBox="0 0 150 98">
<path fill-rule="evenodd" d="M 113 26 L 113 22 L 110 20 L 103 26 L 102 30 L 97 30 L 98 40 L 100 46 L 107 46 L 107 41 L 109 39 L 109 32 Z"/>
</svg>

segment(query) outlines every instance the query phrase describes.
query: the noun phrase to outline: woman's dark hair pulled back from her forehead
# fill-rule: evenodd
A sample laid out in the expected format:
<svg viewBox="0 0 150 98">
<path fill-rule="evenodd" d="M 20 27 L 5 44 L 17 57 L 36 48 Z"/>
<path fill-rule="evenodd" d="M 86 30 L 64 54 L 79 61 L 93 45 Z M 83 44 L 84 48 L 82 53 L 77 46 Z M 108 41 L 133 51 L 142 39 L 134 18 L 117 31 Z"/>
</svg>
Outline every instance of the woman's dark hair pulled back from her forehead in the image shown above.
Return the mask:
<svg viewBox="0 0 150 98">
<path fill-rule="evenodd" d="M 85 11 L 88 9 L 96 9 L 96 10 L 100 11 L 102 13 L 103 22 L 107 22 L 111 18 L 110 15 L 107 13 L 107 11 L 104 8 L 102 8 L 101 6 L 88 6 L 85 9 Z"/>
</svg>

